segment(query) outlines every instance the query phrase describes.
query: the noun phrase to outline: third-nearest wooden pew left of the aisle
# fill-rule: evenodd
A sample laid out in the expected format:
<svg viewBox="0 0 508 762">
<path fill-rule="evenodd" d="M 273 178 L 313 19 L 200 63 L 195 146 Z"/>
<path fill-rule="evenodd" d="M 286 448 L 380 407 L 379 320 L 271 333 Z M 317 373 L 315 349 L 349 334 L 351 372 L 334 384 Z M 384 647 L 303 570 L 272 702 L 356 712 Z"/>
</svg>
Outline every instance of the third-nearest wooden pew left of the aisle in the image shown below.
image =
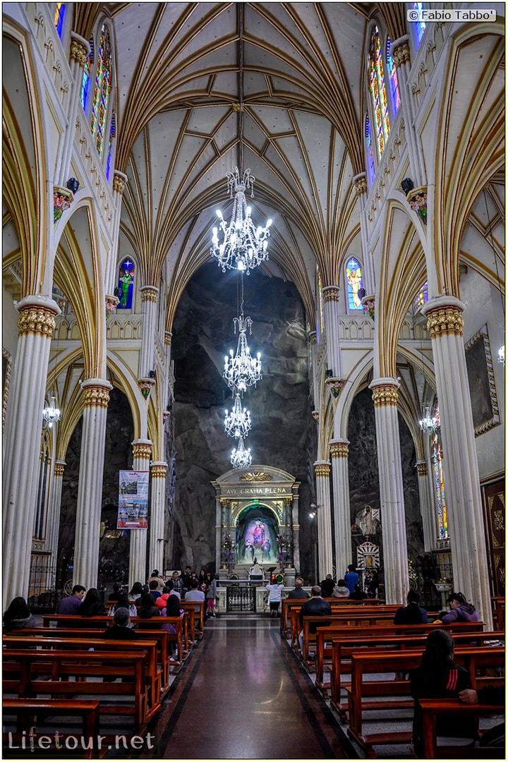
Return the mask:
<svg viewBox="0 0 508 762">
<path fill-rule="evenodd" d="M 41 645 L 37 641 L 42 640 Z M 124 651 L 137 652 L 140 651 L 145 654 L 145 674 L 148 680 L 149 690 L 151 693 L 151 706 L 157 710 L 160 708 L 161 698 L 169 690 L 169 684 L 163 684 L 163 678 L 165 677 L 162 668 L 158 664 L 158 648 L 157 641 L 155 640 L 106 640 L 102 638 L 86 637 L 82 639 L 69 639 L 60 638 L 58 636 L 50 636 L 47 634 L 43 638 L 30 638 L 21 636 L 5 635 L 2 638 L 4 648 L 16 649 L 16 648 L 54 648 L 62 652 L 74 652 L 74 651 L 105 651 L 112 654 L 112 658 L 116 659 L 118 654 L 122 654 Z M 121 658 L 120 658 L 121 660 Z M 150 713 L 150 716 L 154 714 L 155 710 Z"/>
</svg>

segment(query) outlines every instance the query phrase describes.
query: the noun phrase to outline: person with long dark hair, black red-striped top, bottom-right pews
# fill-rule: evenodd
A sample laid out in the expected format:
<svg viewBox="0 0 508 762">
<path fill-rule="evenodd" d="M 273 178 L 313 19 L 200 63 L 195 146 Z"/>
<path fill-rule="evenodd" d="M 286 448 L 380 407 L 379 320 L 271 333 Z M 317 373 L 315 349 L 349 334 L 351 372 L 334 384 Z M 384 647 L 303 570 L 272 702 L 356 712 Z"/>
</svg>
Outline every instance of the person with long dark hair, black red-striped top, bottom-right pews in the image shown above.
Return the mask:
<svg viewBox="0 0 508 762">
<path fill-rule="evenodd" d="M 420 667 L 411 677 L 411 696 L 414 698 L 413 743 L 418 756 L 423 753 L 423 723 L 418 699 L 452 699 L 470 687 L 469 672 L 453 661 L 453 638 L 444 629 L 435 629 L 427 637 Z M 436 719 L 436 734 L 446 736 L 446 745 L 464 745 L 471 738 L 471 727 L 464 718 L 446 716 Z M 475 735 L 475 734 L 474 734 Z"/>
</svg>

